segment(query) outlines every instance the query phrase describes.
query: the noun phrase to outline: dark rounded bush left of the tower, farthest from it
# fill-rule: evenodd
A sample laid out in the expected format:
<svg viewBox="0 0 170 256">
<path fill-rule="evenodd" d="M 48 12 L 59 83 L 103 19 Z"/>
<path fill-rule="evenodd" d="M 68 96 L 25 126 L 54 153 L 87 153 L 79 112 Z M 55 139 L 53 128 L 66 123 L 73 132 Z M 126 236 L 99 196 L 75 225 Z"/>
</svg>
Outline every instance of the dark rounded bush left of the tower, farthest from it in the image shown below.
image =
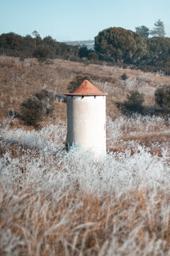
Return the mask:
<svg viewBox="0 0 170 256">
<path fill-rule="evenodd" d="M 26 124 L 35 126 L 42 121 L 43 106 L 37 97 L 31 95 L 21 104 L 21 115 Z"/>
</svg>

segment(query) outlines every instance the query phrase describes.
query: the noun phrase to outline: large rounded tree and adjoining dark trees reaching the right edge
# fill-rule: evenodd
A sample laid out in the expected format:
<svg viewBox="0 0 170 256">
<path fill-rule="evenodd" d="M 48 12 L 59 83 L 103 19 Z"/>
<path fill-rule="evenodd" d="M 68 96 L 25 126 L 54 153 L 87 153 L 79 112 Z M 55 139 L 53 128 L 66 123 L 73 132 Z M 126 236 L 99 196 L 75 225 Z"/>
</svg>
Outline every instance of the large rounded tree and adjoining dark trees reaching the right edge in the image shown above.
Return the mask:
<svg viewBox="0 0 170 256">
<path fill-rule="evenodd" d="M 142 38 L 124 28 L 107 28 L 95 37 L 95 50 L 100 59 L 135 65 L 170 64 L 170 38 Z"/>
</svg>

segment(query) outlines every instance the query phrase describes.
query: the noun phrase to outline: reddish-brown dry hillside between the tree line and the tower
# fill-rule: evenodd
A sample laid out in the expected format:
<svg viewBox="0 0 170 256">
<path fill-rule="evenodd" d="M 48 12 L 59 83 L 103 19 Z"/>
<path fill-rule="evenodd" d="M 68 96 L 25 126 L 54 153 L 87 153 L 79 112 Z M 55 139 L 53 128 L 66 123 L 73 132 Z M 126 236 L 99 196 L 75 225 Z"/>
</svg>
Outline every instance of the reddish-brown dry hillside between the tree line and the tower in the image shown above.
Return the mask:
<svg viewBox="0 0 170 256">
<path fill-rule="evenodd" d="M 128 80 L 121 80 L 126 73 Z M 0 119 L 6 118 L 9 110 L 19 111 L 20 104 L 29 94 L 42 88 L 63 94 L 75 75 L 88 74 L 94 85 L 108 92 L 107 115 L 119 117 L 115 102 L 123 102 L 130 90 L 145 94 L 145 105 L 154 105 L 154 90 L 157 85 L 170 84 L 168 76 L 143 73 L 140 70 L 125 70 L 106 65 L 85 65 L 67 60 L 55 60 L 52 65 L 40 65 L 34 59 L 20 62 L 17 58 L 0 58 L 1 112 Z M 55 117 L 66 122 L 66 107 L 56 102 Z"/>
</svg>

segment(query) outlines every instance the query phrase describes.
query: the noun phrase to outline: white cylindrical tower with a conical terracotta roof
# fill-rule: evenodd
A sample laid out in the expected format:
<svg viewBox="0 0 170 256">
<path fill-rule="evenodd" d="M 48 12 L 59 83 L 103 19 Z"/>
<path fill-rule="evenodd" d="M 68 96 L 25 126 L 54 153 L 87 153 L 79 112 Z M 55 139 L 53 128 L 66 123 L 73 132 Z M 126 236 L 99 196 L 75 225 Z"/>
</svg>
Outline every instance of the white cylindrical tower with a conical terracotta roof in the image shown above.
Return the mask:
<svg viewBox="0 0 170 256">
<path fill-rule="evenodd" d="M 106 154 L 106 93 L 88 80 L 67 93 L 67 143 Z"/>
</svg>

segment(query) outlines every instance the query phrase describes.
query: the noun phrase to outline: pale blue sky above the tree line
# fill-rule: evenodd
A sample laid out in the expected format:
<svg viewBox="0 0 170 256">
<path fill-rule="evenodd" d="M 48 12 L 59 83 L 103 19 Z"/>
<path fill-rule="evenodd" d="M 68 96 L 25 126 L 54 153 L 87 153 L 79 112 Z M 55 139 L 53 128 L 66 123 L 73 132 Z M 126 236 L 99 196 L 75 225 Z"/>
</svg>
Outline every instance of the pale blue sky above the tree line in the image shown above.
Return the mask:
<svg viewBox="0 0 170 256">
<path fill-rule="evenodd" d="M 0 0 L 0 34 L 38 31 L 57 41 L 94 39 L 111 26 L 152 29 L 159 18 L 170 37 L 170 0 Z"/>
</svg>

